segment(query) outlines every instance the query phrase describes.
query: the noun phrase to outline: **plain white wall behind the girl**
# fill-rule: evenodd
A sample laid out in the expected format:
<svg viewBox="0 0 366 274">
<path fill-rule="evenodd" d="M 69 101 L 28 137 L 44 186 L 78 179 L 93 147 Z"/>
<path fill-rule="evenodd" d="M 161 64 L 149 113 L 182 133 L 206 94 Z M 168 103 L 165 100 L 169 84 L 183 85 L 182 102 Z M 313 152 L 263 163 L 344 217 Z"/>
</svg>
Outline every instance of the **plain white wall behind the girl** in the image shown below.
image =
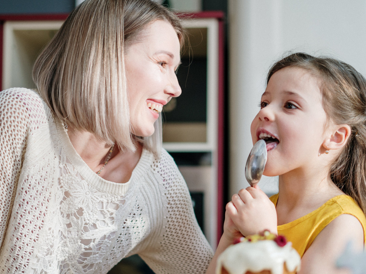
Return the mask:
<svg viewBox="0 0 366 274">
<path fill-rule="evenodd" d="M 249 186 L 244 165 L 253 146 L 269 66 L 288 51 L 327 54 L 366 73 L 366 0 L 228 0 L 229 194 Z M 262 178 L 267 193 L 276 178 Z"/>
</svg>

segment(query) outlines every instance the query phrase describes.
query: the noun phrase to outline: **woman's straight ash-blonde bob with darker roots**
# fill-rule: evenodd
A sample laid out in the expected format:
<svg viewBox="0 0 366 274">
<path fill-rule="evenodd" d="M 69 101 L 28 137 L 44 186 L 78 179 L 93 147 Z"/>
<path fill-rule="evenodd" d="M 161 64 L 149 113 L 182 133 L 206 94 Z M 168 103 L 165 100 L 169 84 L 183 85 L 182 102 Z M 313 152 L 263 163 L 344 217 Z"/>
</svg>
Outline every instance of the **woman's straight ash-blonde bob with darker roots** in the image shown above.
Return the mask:
<svg viewBox="0 0 366 274">
<path fill-rule="evenodd" d="M 183 45 L 181 20 L 154 1 L 86 0 L 76 7 L 33 66 L 33 80 L 55 117 L 122 150 L 134 151 L 138 140 L 159 154 L 161 118 L 152 136 L 131 133 L 124 69 L 126 49 L 155 20 L 171 23 Z"/>
</svg>

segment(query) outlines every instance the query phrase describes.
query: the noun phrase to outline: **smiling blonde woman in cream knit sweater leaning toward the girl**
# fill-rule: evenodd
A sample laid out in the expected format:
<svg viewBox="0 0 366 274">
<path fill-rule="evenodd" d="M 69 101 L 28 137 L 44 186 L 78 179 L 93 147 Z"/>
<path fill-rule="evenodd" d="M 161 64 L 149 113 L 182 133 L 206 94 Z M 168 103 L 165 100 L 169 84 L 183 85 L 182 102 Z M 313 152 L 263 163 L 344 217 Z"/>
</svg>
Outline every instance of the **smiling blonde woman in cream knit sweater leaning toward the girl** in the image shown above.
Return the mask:
<svg viewBox="0 0 366 274">
<path fill-rule="evenodd" d="M 37 90 L 1 92 L 1 273 L 107 273 L 134 254 L 155 273 L 206 271 L 161 148 L 184 33 L 154 1 L 86 0 L 38 56 Z"/>
</svg>

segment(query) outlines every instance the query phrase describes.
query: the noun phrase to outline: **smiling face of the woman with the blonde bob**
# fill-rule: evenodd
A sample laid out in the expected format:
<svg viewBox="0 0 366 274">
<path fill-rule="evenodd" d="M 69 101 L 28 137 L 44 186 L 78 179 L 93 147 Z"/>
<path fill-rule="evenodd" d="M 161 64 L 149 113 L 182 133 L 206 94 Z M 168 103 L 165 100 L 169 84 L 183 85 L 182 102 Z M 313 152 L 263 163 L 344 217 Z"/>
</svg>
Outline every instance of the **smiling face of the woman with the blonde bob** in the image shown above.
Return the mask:
<svg viewBox="0 0 366 274">
<path fill-rule="evenodd" d="M 175 74 L 180 44 L 172 25 L 163 20 L 140 35 L 144 39 L 126 51 L 125 66 L 133 134 L 147 137 L 154 133 L 163 106 L 182 92 Z"/>
</svg>

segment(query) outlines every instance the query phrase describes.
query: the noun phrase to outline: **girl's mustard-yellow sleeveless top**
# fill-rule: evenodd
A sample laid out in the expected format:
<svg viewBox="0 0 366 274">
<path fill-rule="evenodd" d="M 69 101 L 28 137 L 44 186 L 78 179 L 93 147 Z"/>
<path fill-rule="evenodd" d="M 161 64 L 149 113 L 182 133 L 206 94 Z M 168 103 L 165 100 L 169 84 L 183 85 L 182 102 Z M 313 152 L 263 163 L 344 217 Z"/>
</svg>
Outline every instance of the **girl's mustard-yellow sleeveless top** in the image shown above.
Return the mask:
<svg viewBox="0 0 366 274">
<path fill-rule="evenodd" d="M 269 199 L 276 206 L 278 194 L 271 196 Z M 365 243 L 365 214 L 363 214 L 363 211 L 355 200 L 348 195 L 338 195 L 329 199 L 324 205 L 315 209 L 313 212 L 289 222 L 288 224 L 278 225 L 277 231 L 279 235 L 285 236 L 288 241 L 292 242 L 292 246 L 302 257 L 319 232 L 341 214 L 351 214 L 361 222 L 363 228 L 363 242 Z"/>
</svg>

